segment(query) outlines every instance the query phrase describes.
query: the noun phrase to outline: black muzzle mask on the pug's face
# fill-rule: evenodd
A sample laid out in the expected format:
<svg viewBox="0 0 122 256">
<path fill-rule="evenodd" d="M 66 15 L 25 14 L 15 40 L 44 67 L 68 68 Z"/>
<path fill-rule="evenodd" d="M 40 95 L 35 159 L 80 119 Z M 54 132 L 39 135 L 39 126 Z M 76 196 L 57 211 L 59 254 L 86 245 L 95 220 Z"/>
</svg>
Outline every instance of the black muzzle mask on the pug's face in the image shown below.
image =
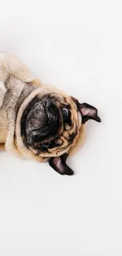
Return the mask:
<svg viewBox="0 0 122 256">
<path fill-rule="evenodd" d="M 21 133 L 26 146 L 39 146 L 39 143 L 54 135 L 60 125 L 59 109 L 54 98 L 35 97 L 24 110 L 21 119 Z"/>
</svg>

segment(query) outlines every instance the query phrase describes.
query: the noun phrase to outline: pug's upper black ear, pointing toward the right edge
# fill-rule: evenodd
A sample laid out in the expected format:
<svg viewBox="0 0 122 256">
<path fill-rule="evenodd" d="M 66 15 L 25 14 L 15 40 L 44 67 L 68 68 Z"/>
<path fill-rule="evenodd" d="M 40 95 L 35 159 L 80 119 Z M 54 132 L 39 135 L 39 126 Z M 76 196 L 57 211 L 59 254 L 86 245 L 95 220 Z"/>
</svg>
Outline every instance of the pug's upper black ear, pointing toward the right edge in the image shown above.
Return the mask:
<svg viewBox="0 0 122 256">
<path fill-rule="evenodd" d="M 91 106 L 87 103 L 79 103 L 79 109 L 82 113 L 83 121 L 82 123 L 85 124 L 86 121 L 89 119 L 93 119 L 94 121 L 101 122 L 101 118 L 98 117 L 98 109 L 94 108 L 94 106 Z"/>
</svg>

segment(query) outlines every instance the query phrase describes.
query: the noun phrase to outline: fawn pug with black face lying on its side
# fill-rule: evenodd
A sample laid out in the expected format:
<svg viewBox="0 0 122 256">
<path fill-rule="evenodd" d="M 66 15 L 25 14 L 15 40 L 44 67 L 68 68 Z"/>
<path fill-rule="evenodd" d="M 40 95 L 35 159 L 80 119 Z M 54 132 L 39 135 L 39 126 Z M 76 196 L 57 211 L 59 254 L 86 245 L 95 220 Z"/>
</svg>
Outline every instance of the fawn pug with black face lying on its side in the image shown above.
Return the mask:
<svg viewBox="0 0 122 256">
<path fill-rule="evenodd" d="M 0 150 L 72 175 L 66 160 L 83 143 L 88 120 L 101 122 L 98 109 L 36 80 L 17 56 L 0 54 Z"/>
</svg>

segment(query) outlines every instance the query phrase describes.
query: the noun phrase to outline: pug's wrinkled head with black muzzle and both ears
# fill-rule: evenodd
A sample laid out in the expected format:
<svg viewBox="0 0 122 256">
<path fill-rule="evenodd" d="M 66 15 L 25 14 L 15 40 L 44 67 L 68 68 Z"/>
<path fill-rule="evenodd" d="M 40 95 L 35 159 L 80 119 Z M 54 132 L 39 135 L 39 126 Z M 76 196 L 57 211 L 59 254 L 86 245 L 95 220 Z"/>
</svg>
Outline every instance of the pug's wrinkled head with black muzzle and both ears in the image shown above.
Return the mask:
<svg viewBox="0 0 122 256">
<path fill-rule="evenodd" d="M 21 135 L 25 146 L 48 158 L 57 173 L 72 175 L 66 165 L 68 151 L 75 146 L 81 125 L 90 119 L 101 122 L 98 110 L 76 98 L 58 93 L 35 96 L 22 115 Z"/>
</svg>

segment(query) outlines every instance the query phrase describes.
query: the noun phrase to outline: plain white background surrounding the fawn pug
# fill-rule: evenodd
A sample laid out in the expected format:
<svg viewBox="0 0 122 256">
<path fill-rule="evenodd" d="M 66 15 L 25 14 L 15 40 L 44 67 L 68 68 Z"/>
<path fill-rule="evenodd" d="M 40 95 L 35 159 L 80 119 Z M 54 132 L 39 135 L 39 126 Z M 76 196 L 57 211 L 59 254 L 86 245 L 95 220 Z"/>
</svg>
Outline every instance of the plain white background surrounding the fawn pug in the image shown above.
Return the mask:
<svg viewBox="0 0 122 256">
<path fill-rule="evenodd" d="M 74 176 L 0 153 L 0 255 L 122 255 L 121 1 L 1 1 L 0 50 L 98 108 Z"/>
</svg>

